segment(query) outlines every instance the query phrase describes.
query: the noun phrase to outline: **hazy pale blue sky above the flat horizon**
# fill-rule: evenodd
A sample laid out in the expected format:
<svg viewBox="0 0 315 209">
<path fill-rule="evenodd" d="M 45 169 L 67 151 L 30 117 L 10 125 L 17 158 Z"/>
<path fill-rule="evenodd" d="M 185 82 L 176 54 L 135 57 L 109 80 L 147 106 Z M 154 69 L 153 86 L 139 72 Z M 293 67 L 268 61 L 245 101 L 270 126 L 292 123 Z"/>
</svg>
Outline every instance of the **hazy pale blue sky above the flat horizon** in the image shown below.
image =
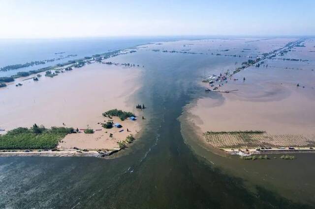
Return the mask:
<svg viewBox="0 0 315 209">
<path fill-rule="evenodd" d="M 315 35 L 315 0 L 0 0 L 0 38 Z"/>
</svg>

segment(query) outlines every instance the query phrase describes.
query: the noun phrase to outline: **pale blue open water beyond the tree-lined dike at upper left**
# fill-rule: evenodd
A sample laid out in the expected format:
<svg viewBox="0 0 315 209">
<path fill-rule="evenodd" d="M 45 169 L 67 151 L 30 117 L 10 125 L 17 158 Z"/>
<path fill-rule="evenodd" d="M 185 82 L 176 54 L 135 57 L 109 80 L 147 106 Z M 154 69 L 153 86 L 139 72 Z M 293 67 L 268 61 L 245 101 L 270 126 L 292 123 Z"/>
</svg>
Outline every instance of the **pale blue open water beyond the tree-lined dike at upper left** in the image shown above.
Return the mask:
<svg viewBox="0 0 315 209">
<path fill-rule="evenodd" d="M 76 39 L 0 39 L 0 67 L 13 64 L 24 64 L 31 61 L 58 58 L 60 55 L 77 54 L 43 65 L 34 65 L 6 72 L 0 77 L 12 76 L 17 72 L 25 72 L 48 67 L 68 60 L 83 58 L 97 53 L 115 51 L 157 41 L 192 39 L 196 37 L 116 37 L 116 38 L 76 38 Z M 56 52 L 65 52 L 55 54 Z"/>
</svg>

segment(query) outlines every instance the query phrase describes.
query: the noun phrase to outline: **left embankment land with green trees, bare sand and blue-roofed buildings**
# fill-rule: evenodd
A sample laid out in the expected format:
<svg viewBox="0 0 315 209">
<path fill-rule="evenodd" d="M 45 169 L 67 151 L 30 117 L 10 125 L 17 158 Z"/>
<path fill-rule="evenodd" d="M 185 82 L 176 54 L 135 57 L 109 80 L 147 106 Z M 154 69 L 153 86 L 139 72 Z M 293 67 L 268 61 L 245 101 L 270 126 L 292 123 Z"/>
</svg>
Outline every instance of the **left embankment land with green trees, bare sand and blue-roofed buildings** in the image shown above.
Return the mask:
<svg viewBox="0 0 315 209">
<path fill-rule="evenodd" d="M 105 157 L 126 149 L 136 140 L 136 116 L 111 109 L 102 113 L 98 128 L 51 127 L 33 124 L 0 135 L 0 156 L 92 156 Z M 65 124 L 63 124 L 65 125 Z"/>
</svg>

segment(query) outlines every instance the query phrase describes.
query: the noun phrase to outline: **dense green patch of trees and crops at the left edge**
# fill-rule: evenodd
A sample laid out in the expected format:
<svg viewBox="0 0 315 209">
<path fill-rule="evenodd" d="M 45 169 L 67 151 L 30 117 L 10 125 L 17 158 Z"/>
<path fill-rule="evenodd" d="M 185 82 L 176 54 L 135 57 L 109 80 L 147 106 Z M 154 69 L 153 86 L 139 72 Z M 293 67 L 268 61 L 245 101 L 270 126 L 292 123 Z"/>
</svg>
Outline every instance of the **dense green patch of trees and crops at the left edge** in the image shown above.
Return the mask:
<svg viewBox="0 0 315 209">
<path fill-rule="evenodd" d="M 73 128 L 51 127 L 34 124 L 32 128 L 16 128 L 0 135 L 0 149 L 53 149 Z"/>
</svg>

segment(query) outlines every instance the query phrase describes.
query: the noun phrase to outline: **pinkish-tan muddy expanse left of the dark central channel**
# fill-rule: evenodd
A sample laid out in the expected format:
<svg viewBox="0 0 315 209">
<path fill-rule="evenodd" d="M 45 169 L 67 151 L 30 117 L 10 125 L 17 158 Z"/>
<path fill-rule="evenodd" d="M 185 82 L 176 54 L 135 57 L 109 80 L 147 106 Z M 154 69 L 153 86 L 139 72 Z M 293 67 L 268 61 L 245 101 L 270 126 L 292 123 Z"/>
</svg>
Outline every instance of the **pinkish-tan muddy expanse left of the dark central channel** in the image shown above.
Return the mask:
<svg viewBox="0 0 315 209">
<path fill-rule="evenodd" d="M 114 122 L 121 123 L 123 128 L 109 130 L 103 129 L 98 123 L 107 121 L 108 118 L 102 113 L 114 108 L 142 116 L 143 111 L 135 109 L 139 101 L 132 97 L 140 88 L 141 74 L 141 68 L 137 67 L 93 63 L 54 78 L 42 76 L 39 81 L 23 81 L 26 78 L 19 78 L 15 82 L 23 86 L 12 84 L 5 90 L 0 89 L 0 129 L 8 131 L 17 127 L 31 127 L 34 123 L 45 127 L 101 129 L 93 134 L 83 131 L 68 134 L 59 147 L 118 149 L 117 141 L 140 131 L 140 120 L 121 121 L 114 117 Z M 113 137 L 109 138 L 110 133 Z"/>
</svg>

